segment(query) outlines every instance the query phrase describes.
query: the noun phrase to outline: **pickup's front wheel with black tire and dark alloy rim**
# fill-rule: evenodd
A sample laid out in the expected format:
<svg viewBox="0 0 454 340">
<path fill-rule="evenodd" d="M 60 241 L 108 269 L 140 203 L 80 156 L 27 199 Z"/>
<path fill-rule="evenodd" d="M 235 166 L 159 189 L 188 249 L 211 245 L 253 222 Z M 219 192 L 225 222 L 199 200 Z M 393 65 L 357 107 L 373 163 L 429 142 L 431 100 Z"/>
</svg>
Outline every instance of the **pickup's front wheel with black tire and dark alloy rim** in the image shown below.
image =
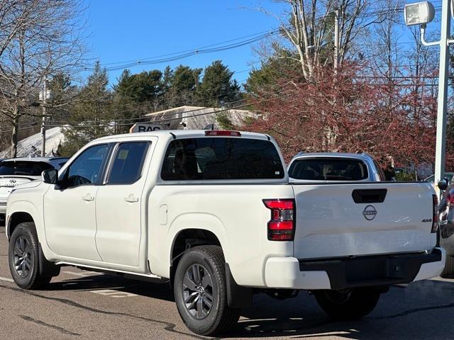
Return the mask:
<svg viewBox="0 0 454 340">
<path fill-rule="evenodd" d="M 40 276 L 39 243 L 33 222 L 19 224 L 9 240 L 9 270 L 21 288 L 33 290 L 50 283 L 52 276 Z"/>
</svg>

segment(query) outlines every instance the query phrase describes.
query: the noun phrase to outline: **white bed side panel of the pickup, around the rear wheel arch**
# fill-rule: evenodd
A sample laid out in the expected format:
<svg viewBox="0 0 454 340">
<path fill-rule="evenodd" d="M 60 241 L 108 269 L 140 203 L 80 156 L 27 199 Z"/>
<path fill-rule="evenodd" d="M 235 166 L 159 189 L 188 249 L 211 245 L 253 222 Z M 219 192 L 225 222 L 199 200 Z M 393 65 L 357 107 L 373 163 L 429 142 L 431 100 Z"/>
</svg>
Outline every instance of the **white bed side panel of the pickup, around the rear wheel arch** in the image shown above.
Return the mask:
<svg viewBox="0 0 454 340">
<path fill-rule="evenodd" d="M 270 242 L 270 210 L 264 198 L 293 198 L 284 184 L 158 185 L 150 195 L 151 271 L 169 277 L 172 244 L 184 229 L 206 229 L 218 237 L 226 263 L 240 285 L 265 286 L 270 256 L 292 256 L 293 242 Z"/>
</svg>

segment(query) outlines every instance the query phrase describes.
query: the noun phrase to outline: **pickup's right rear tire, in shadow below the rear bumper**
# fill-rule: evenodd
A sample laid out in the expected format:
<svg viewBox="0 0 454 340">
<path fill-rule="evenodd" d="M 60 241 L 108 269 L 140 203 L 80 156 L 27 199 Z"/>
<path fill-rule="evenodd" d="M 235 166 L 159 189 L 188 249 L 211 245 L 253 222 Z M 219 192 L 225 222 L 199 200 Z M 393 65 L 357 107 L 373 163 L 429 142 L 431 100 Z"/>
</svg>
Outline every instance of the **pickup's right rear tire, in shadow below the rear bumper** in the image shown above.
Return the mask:
<svg viewBox="0 0 454 340">
<path fill-rule="evenodd" d="M 323 312 L 333 319 L 360 319 L 374 310 L 380 292 L 371 288 L 357 288 L 347 292 L 321 290 L 314 293 Z"/>
</svg>

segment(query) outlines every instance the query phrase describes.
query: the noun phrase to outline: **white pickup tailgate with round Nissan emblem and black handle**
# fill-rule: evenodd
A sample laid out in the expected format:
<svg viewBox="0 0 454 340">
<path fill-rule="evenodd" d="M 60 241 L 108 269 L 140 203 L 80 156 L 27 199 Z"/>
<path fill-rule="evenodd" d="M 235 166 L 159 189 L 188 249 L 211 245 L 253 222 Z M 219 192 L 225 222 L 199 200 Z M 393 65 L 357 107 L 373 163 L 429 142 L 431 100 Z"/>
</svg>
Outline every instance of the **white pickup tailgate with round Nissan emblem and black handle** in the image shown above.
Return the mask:
<svg viewBox="0 0 454 340">
<path fill-rule="evenodd" d="M 433 248 L 428 183 L 293 184 L 294 256 L 321 259 Z"/>
</svg>

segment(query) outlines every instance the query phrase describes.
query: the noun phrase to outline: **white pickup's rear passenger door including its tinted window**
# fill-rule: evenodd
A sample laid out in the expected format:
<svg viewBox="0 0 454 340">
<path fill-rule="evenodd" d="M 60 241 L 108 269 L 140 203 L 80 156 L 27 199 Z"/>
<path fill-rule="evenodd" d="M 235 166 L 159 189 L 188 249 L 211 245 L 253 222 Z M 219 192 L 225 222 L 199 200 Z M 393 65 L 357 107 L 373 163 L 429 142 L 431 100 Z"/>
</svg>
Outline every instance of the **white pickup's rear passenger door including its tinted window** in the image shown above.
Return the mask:
<svg viewBox="0 0 454 340">
<path fill-rule="evenodd" d="M 104 262 L 139 265 L 141 210 L 150 142 L 123 142 L 96 196 L 96 246 Z"/>
</svg>

